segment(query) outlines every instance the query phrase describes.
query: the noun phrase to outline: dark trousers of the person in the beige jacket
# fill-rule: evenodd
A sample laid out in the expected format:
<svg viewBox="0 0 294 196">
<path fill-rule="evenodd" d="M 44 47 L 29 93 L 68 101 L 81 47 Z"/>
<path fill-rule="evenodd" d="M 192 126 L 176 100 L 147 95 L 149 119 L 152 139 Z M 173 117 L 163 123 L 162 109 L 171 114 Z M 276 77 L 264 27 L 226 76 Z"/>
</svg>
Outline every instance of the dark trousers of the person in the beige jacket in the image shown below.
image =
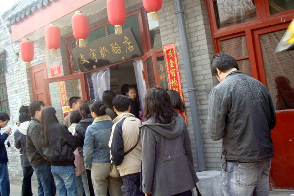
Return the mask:
<svg viewBox="0 0 294 196">
<path fill-rule="evenodd" d="M 134 173 L 122 177 L 125 196 L 145 196 L 140 189 L 140 173 Z"/>
</svg>

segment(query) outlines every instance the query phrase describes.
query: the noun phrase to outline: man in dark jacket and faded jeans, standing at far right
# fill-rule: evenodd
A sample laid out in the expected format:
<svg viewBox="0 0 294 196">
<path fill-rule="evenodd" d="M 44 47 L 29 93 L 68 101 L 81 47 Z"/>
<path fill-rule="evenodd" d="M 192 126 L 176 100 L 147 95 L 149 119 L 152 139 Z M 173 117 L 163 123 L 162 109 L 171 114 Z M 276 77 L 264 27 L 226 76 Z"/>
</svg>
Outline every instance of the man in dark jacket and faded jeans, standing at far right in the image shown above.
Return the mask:
<svg viewBox="0 0 294 196">
<path fill-rule="evenodd" d="M 268 89 L 239 71 L 236 60 L 220 53 L 211 62 L 219 84 L 209 96 L 207 129 L 212 140 L 223 139 L 225 196 L 268 196 L 275 127 L 275 109 Z M 230 194 L 229 194 L 230 193 Z"/>
</svg>

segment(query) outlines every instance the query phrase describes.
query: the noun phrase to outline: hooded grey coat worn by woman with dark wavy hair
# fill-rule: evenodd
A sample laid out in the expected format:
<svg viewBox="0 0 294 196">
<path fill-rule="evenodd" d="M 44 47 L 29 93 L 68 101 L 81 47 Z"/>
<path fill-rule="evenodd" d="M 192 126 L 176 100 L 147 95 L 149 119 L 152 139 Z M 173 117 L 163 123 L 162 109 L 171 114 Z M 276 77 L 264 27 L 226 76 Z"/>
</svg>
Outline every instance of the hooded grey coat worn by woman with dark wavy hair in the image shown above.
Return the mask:
<svg viewBox="0 0 294 196">
<path fill-rule="evenodd" d="M 142 188 L 153 196 L 172 196 L 193 189 L 198 182 L 190 138 L 180 115 L 170 124 L 150 118 L 141 127 Z"/>
</svg>

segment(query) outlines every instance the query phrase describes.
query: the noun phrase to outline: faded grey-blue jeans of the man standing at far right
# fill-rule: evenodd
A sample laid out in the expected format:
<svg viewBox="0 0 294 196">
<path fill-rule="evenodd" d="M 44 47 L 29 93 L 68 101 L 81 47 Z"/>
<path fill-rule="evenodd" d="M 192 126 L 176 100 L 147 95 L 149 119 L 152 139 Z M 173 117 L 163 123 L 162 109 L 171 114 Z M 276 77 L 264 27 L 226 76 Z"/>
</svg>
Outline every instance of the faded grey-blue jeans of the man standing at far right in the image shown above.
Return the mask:
<svg viewBox="0 0 294 196">
<path fill-rule="evenodd" d="M 222 190 L 225 196 L 269 196 L 271 159 L 253 163 L 225 161 Z"/>
</svg>

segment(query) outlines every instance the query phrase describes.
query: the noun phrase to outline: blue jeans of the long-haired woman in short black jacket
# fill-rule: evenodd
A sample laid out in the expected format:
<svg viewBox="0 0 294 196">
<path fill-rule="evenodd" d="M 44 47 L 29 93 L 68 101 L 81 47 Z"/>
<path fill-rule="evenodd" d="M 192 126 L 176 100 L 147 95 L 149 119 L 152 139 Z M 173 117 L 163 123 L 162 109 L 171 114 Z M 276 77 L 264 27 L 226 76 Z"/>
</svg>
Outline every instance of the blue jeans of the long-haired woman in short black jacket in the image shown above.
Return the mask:
<svg viewBox="0 0 294 196">
<path fill-rule="evenodd" d="M 59 196 L 77 196 L 75 167 L 51 166 Z"/>
</svg>

